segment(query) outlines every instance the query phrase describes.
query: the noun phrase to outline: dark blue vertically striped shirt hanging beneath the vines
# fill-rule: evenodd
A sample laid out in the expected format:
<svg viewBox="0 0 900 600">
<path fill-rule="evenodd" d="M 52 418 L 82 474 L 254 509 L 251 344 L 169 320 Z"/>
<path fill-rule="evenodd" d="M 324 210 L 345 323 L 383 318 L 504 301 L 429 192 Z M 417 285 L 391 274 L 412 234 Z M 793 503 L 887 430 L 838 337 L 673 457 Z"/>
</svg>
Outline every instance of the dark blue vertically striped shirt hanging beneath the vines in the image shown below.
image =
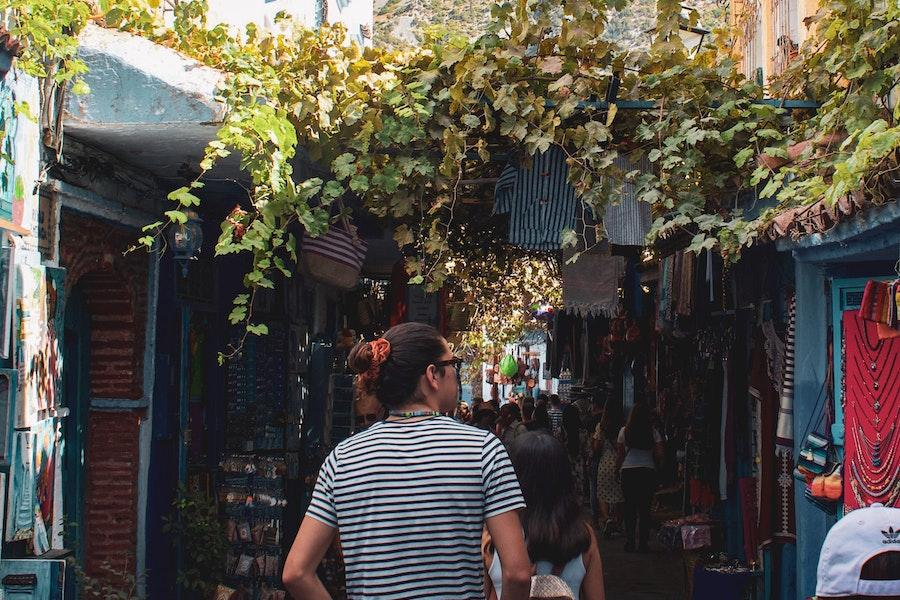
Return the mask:
<svg viewBox="0 0 900 600">
<path fill-rule="evenodd" d="M 526 250 L 559 250 L 562 232 L 575 227 L 578 198 L 558 146 L 532 157 L 531 166 L 509 164 L 494 189 L 494 214 L 509 214 L 509 242 Z"/>
</svg>

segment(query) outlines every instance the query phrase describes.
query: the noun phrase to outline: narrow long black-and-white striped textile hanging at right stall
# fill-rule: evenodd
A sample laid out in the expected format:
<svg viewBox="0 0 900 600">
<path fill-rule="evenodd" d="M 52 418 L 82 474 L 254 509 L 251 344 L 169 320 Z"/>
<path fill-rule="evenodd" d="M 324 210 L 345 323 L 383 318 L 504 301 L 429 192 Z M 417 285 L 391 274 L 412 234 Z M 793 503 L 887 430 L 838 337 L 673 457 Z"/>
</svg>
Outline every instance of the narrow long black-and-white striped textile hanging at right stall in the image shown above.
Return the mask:
<svg viewBox="0 0 900 600">
<path fill-rule="evenodd" d="M 797 299 L 791 298 L 787 340 L 784 347 L 784 385 L 775 430 L 775 456 L 778 464 L 779 499 L 775 505 L 775 536 L 795 538 L 794 527 L 794 331 Z"/>
</svg>

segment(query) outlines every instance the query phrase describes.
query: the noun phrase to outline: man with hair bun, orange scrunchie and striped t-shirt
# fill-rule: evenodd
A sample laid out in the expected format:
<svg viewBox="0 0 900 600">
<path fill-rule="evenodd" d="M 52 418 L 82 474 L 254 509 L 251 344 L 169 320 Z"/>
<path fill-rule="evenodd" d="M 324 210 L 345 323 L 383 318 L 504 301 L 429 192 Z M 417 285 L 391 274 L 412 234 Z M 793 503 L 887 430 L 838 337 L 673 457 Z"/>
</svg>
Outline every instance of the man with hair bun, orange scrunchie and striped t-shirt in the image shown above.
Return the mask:
<svg viewBox="0 0 900 600">
<path fill-rule="evenodd" d="M 483 598 L 486 526 L 509 565 L 504 589 L 528 598 L 519 484 L 500 440 L 443 416 L 459 395 L 459 359 L 446 340 L 405 323 L 357 345 L 348 362 L 388 417 L 338 444 L 322 465 L 284 566 L 290 594 L 329 598 L 316 568 L 340 533 L 354 600 Z"/>
</svg>

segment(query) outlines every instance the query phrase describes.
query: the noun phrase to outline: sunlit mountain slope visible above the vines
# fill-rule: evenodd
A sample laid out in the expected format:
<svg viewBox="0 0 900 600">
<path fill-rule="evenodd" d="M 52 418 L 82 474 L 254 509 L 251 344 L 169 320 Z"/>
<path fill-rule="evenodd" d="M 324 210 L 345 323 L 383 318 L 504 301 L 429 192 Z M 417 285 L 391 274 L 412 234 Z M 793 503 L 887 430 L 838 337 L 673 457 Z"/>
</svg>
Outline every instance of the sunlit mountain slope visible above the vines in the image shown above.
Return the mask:
<svg viewBox="0 0 900 600">
<path fill-rule="evenodd" d="M 484 33 L 495 0 L 375 0 L 375 45 L 416 45 L 431 25 L 475 38 Z M 700 24 L 715 29 L 725 24 L 726 9 L 717 0 L 690 4 L 700 13 Z M 656 25 L 656 0 L 632 0 L 622 11 L 612 11 L 606 37 L 628 50 L 650 45 L 646 32 Z"/>
</svg>

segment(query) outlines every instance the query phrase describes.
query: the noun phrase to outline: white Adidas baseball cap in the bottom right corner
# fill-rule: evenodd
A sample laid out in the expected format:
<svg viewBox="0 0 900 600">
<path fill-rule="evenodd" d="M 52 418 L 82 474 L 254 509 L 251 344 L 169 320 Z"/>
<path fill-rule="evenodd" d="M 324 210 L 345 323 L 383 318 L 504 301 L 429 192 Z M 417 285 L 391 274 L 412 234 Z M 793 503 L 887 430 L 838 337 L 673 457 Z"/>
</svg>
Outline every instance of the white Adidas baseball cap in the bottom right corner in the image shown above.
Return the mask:
<svg viewBox="0 0 900 600">
<path fill-rule="evenodd" d="M 888 581 L 862 578 L 863 565 L 885 552 L 900 552 L 900 508 L 873 504 L 848 513 L 825 536 L 816 596 L 900 596 L 900 574 Z"/>
</svg>

